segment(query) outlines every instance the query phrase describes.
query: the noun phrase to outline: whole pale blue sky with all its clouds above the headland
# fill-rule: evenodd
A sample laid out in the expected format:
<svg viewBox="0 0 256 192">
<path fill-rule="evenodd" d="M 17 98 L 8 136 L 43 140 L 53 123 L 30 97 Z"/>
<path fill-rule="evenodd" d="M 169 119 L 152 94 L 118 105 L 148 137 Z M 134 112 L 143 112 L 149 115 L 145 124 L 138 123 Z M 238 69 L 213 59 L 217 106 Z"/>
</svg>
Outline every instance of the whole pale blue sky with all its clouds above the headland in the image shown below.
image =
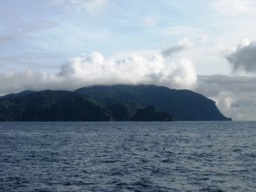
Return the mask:
<svg viewBox="0 0 256 192">
<path fill-rule="evenodd" d="M 0 95 L 156 84 L 256 120 L 255 32 L 254 0 L 0 0 Z"/>
</svg>

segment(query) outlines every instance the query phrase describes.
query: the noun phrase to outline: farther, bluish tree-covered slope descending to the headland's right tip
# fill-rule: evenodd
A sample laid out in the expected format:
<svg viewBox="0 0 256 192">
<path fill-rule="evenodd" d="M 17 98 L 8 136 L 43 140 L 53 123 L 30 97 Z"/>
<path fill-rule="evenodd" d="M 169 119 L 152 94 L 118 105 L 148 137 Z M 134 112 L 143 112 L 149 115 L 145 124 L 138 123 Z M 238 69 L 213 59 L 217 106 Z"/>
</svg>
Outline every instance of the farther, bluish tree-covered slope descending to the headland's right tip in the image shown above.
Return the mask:
<svg viewBox="0 0 256 192">
<path fill-rule="evenodd" d="M 155 85 L 101 85 L 74 92 L 94 96 L 108 105 L 123 101 L 137 103 L 139 108 L 153 105 L 158 111 L 176 114 L 178 120 L 230 120 L 219 112 L 215 102 L 191 90 L 172 90 Z"/>
</svg>

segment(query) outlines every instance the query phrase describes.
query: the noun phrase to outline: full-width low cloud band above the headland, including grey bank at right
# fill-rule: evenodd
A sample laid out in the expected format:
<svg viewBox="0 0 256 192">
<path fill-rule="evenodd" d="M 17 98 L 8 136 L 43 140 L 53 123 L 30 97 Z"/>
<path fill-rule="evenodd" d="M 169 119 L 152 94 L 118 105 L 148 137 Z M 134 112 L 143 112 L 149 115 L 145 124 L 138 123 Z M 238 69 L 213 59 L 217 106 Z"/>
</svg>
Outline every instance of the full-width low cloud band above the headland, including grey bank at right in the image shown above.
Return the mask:
<svg viewBox="0 0 256 192">
<path fill-rule="evenodd" d="M 114 59 L 92 52 L 70 59 L 55 73 L 33 69 L 0 73 L 0 93 L 75 90 L 96 84 L 157 84 L 195 90 L 212 98 L 224 115 L 244 120 L 253 119 L 256 113 L 255 82 L 255 77 L 246 76 L 197 76 L 190 60 L 172 57 L 172 54 L 128 55 Z"/>
</svg>

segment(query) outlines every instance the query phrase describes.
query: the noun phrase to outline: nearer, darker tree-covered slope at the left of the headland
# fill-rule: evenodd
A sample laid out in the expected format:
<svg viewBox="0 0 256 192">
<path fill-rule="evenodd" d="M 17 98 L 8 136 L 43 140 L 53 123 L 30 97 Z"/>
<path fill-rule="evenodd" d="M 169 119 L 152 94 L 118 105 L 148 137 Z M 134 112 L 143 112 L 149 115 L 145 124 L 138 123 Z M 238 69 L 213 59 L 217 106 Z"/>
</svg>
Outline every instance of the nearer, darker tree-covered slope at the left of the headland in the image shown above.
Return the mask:
<svg viewBox="0 0 256 192">
<path fill-rule="evenodd" d="M 100 103 L 72 91 L 43 90 L 0 98 L 1 121 L 109 120 Z"/>
</svg>

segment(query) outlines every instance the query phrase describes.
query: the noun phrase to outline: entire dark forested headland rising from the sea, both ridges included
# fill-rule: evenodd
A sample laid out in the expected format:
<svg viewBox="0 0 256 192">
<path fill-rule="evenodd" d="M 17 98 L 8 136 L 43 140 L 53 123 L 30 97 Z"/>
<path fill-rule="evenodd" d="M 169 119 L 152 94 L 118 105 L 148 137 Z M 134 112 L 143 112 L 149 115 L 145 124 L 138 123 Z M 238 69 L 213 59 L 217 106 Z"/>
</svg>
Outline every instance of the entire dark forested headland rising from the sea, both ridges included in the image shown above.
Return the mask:
<svg viewBox="0 0 256 192">
<path fill-rule="evenodd" d="M 23 91 L 0 97 L 1 121 L 231 120 L 190 90 L 155 85 Z"/>
</svg>

